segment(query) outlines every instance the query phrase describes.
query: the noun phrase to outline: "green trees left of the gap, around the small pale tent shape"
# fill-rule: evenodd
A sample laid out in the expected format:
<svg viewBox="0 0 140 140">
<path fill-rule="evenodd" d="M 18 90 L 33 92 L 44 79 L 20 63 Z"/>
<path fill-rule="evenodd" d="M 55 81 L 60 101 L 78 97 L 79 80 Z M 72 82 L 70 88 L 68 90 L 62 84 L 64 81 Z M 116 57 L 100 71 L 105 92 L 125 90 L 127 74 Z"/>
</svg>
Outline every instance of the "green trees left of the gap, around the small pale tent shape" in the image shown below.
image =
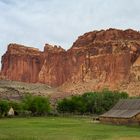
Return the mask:
<svg viewBox="0 0 140 140">
<path fill-rule="evenodd" d="M 13 108 L 17 116 L 41 116 L 50 112 L 49 98 L 27 94 L 21 101 L 0 100 L 0 117 L 8 115 Z"/>
</svg>

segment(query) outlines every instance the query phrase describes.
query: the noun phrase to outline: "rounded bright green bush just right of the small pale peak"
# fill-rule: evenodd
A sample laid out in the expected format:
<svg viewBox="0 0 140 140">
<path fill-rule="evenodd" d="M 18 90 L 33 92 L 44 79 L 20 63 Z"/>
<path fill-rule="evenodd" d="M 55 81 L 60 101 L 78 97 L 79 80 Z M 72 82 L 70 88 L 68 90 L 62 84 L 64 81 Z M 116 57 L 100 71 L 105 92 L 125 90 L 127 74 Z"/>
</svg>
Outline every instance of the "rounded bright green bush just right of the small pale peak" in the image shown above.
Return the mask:
<svg viewBox="0 0 140 140">
<path fill-rule="evenodd" d="M 50 103 L 46 97 L 27 95 L 23 104 L 24 110 L 31 111 L 33 115 L 45 115 L 50 111 Z"/>
</svg>

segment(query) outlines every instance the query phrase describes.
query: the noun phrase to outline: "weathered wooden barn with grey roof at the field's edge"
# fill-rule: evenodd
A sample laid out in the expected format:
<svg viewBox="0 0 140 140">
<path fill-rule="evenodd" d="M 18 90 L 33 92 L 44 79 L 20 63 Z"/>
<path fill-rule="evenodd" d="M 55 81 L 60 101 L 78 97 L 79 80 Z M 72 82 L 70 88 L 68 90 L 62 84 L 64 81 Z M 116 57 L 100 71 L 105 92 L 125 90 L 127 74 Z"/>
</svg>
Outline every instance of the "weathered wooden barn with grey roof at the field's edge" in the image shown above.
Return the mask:
<svg viewBox="0 0 140 140">
<path fill-rule="evenodd" d="M 99 119 L 102 123 L 140 125 L 140 99 L 122 99 Z"/>
</svg>

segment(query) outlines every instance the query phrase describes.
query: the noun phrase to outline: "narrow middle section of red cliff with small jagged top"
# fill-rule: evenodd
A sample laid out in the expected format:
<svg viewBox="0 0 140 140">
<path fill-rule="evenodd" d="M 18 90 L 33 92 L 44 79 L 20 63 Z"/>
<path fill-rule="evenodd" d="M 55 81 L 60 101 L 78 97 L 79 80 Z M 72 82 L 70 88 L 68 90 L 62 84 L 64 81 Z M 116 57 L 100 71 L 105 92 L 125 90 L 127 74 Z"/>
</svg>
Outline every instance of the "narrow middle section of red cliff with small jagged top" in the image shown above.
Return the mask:
<svg viewBox="0 0 140 140">
<path fill-rule="evenodd" d="M 44 63 L 39 72 L 39 82 L 50 86 L 58 86 L 66 80 L 66 51 L 61 47 L 46 44 L 44 47 Z"/>
</svg>

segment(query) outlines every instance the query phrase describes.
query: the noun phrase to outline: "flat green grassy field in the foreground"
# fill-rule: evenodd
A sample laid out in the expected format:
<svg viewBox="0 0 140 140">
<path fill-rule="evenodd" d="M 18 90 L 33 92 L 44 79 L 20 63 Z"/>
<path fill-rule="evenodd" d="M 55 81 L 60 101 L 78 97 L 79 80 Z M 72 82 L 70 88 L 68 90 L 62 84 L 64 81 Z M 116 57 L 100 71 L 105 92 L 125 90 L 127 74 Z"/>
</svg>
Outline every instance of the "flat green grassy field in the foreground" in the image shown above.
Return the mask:
<svg viewBox="0 0 140 140">
<path fill-rule="evenodd" d="M 140 126 L 93 123 L 91 118 L 0 119 L 0 140 L 139 140 Z"/>
</svg>

